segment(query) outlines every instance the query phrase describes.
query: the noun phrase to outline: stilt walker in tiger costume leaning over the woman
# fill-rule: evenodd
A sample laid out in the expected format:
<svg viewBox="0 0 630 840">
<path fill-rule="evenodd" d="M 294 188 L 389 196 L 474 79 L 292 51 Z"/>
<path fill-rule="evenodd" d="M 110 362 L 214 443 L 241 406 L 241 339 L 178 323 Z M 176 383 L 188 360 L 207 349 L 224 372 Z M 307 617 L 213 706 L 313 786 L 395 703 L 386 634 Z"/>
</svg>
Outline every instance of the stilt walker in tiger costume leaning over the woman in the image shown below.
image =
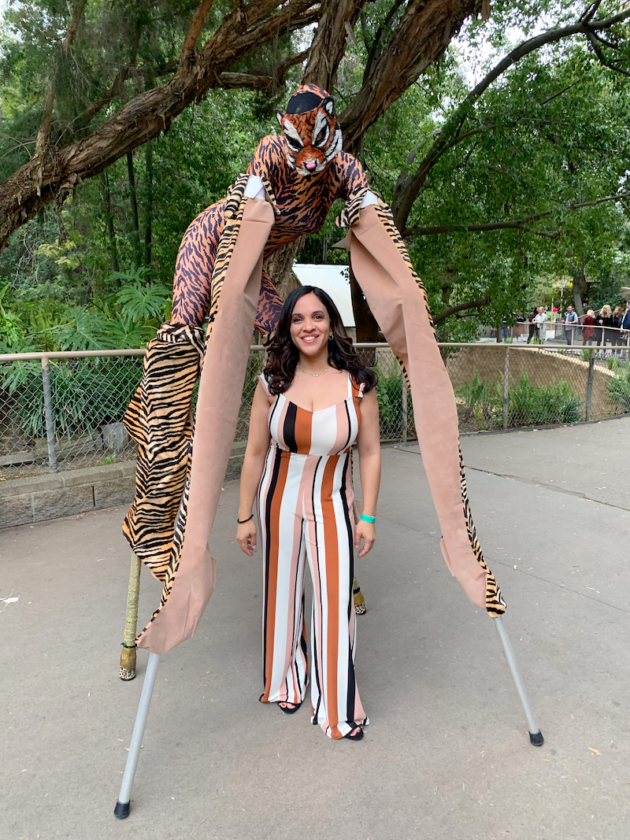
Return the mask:
<svg viewBox="0 0 630 840">
<path fill-rule="evenodd" d="M 216 562 L 209 539 L 236 431 L 251 336 L 255 326 L 263 334 L 272 332 L 282 306 L 264 274 L 263 258 L 318 231 L 337 198 L 346 200 L 338 223 L 349 228 L 345 242 L 357 282 L 411 388 L 446 564 L 475 606 L 497 622 L 505 612 L 470 512 L 453 388 L 426 290 L 391 211 L 369 190 L 360 163 L 342 151 L 334 102 L 326 91 L 304 85 L 289 100 L 287 112 L 277 115 L 283 134 L 263 138 L 248 173 L 184 235 L 172 321 L 149 344 L 142 383 L 125 418 L 138 443 L 138 468 L 124 533 L 164 583 L 160 606 L 136 640 L 151 652 L 154 665 L 145 677 L 135 740 L 146 721 L 157 668 L 153 657 L 195 633 L 214 590 Z M 204 350 L 201 324 L 208 310 Z M 193 436 L 192 391 L 202 358 Z M 497 628 L 532 743 L 542 743 L 502 622 Z M 119 803 L 117 816 L 129 812 L 136 762 L 130 750 L 120 799 L 124 807 Z"/>
</svg>

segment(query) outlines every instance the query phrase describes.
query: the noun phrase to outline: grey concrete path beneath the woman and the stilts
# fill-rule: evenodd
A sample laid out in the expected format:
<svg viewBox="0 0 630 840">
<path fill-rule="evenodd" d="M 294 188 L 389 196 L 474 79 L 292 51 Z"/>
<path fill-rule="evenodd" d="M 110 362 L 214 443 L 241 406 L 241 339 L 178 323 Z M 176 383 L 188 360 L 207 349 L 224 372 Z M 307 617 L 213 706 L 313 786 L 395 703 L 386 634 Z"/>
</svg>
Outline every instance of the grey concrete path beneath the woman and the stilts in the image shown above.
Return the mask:
<svg viewBox="0 0 630 840">
<path fill-rule="evenodd" d="M 626 840 L 630 420 L 463 439 L 473 513 L 545 735 L 530 746 L 492 621 L 440 555 L 414 447 L 383 451 L 358 564 L 359 744 L 257 702 L 260 558 L 213 537 L 215 595 L 160 663 L 132 796 L 113 816 L 140 678 L 118 679 L 121 508 L 0 531 L 2 840 Z M 625 465 L 625 466 L 624 466 Z M 141 613 L 159 600 L 143 573 Z"/>
</svg>

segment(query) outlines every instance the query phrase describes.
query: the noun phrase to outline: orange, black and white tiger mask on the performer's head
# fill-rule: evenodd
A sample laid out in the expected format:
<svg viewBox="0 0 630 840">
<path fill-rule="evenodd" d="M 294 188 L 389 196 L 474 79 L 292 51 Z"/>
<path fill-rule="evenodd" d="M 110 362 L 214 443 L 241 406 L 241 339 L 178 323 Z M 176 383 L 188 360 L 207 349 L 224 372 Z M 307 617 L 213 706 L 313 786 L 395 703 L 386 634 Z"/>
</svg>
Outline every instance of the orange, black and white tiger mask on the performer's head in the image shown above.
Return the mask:
<svg viewBox="0 0 630 840">
<path fill-rule="evenodd" d="M 315 85 L 293 94 L 286 113 L 276 117 L 284 134 L 287 161 L 298 175 L 323 172 L 342 146 L 341 129 L 332 96 Z"/>
</svg>

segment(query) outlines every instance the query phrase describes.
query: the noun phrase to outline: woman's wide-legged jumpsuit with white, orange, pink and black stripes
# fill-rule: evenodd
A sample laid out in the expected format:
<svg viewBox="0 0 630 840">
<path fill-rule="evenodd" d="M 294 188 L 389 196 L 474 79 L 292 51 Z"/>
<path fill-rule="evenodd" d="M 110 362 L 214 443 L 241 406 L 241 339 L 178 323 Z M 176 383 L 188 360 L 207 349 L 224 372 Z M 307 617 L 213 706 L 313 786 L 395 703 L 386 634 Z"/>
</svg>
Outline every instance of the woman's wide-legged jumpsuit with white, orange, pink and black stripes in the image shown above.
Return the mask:
<svg viewBox="0 0 630 840">
<path fill-rule="evenodd" d="M 267 394 L 264 377 L 261 382 Z M 363 386 L 308 411 L 279 394 L 269 409 L 271 446 L 258 489 L 263 550 L 263 703 L 301 703 L 309 673 L 304 560 L 313 581 L 313 724 L 343 738 L 367 723 L 354 673 L 354 516 L 350 450 Z"/>
</svg>

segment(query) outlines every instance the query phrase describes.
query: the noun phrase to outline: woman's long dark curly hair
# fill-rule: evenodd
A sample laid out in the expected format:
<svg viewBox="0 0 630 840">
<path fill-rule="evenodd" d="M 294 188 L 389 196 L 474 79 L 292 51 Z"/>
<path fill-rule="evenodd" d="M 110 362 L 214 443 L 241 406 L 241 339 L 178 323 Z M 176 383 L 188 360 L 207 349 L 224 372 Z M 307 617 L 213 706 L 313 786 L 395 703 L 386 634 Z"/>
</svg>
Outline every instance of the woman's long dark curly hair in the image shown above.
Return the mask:
<svg viewBox="0 0 630 840">
<path fill-rule="evenodd" d="M 291 292 L 284 302 L 263 371 L 269 390 L 272 394 L 283 394 L 293 382 L 300 353 L 291 339 L 291 318 L 298 300 L 310 294 L 321 300 L 330 318 L 332 341 L 328 342 L 328 364 L 336 370 L 349 371 L 354 382 L 364 386 L 364 393 L 371 391 L 376 385 L 376 373 L 359 359 L 341 322 L 339 310 L 330 295 L 317 286 L 301 286 Z"/>
</svg>

